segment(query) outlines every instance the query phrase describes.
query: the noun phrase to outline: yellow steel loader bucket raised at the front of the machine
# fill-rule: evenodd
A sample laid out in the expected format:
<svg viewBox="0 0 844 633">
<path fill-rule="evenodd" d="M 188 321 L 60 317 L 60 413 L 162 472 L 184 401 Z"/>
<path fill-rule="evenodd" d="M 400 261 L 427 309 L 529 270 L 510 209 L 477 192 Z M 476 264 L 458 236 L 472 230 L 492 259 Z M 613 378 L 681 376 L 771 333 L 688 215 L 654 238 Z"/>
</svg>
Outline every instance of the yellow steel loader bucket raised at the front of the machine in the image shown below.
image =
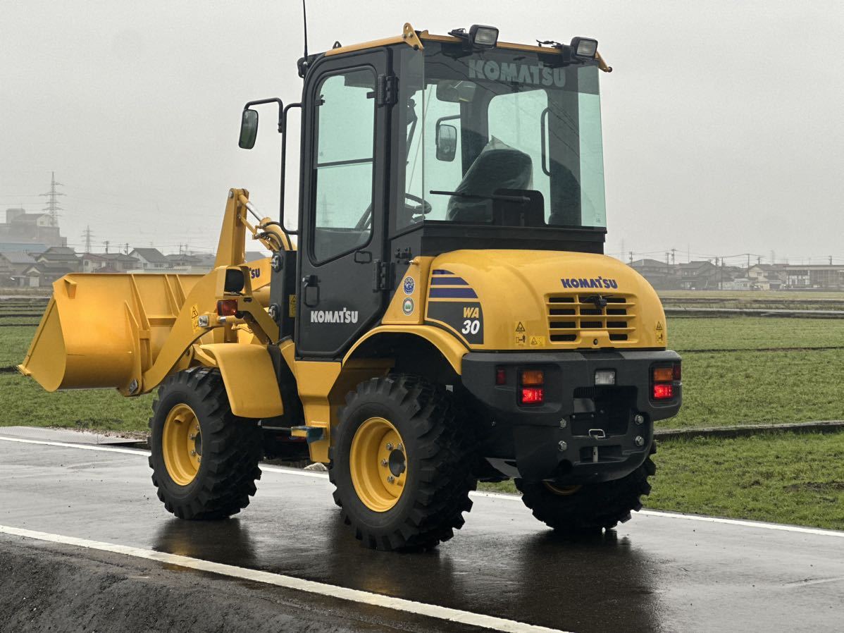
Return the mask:
<svg viewBox="0 0 844 633">
<path fill-rule="evenodd" d="M 68 274 L 53 296 L 18 369 L 47 391 L 116 387 L 149 368 L 203 275 Z"/>
</svg>

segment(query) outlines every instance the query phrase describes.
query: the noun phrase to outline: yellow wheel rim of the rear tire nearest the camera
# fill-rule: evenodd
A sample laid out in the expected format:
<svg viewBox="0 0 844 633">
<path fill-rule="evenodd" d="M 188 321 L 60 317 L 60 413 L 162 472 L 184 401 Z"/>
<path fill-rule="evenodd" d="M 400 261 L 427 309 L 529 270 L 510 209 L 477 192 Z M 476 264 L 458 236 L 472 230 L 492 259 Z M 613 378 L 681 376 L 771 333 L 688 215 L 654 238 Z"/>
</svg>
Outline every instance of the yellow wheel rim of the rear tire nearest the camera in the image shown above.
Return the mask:
<svg viewBox="0 0 844 633">
<path fill-rule="evenodd" d="M 358 498 L 371 511 L 386 512 L 398 503 L 408 479 L 402 436 L 391 422 L 370 418 L 352 438 L 349 470 Z"/>
</svg>

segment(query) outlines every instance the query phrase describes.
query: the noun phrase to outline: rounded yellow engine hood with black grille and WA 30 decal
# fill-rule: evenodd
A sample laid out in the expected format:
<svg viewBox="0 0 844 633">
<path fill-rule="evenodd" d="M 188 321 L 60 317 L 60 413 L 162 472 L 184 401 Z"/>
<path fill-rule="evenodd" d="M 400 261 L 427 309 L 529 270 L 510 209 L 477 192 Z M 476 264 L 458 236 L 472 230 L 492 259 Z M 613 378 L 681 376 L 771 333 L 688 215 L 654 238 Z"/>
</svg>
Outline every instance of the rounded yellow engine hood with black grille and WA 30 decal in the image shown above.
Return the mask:
<svg viewBox="0 0 844 633">
<path fill-rule="evenodd" d="M 665 349 L 657 293 L 592 253 L 454 251 L 430 264 L 425 322 L 471 349 Z"/>
</svg>

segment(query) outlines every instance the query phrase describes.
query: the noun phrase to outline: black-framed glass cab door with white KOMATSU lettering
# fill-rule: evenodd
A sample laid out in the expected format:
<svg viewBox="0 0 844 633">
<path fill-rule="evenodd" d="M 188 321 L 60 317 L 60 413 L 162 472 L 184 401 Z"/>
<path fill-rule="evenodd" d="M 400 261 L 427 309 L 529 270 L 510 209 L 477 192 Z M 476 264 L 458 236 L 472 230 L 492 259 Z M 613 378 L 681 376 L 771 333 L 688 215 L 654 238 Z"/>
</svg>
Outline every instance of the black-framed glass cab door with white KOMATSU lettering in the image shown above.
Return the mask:
<svg viewBox="0 0 844 633">
<path fill-rule="evenodd" d="M 300 357 L 342 356 L 386 305 L 388 56 L 376 49 L 323 57 L 306 78 Z"/>
</svg>

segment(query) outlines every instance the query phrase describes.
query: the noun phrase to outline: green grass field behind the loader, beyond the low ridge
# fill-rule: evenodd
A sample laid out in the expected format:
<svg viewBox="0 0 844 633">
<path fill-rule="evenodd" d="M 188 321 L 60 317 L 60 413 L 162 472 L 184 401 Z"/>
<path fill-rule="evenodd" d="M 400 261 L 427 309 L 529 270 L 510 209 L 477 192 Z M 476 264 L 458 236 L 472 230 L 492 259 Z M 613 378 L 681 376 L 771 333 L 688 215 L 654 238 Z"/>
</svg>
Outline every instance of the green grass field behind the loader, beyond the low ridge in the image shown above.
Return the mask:
<svg viewBox="0 0 844 633">
<path fill-rule="evenodd" d="M 0 322 L 8 322 L 8 317 Z M 24 359 L 35 327 L 0 327 L 0 368 Z M 766 348 L 844 347 L 844 321 L 787 318 L 684 318 L 668 322 L 668 343 L 684 354 L 684 403 L 680 414 L 659 423 L 663 428 L 692 428 L 844 419 L 844 349 L 755 351 Z M 689 349 L 742 351 L 688 352 Z M 91 425 L 145 428 L 146 410 L 138 417 L 137 398 L 116 392 L 47 394 L 16 373 L 0 374 L 0 405 L 8 424 Z M 23 394 L 26 394 L 25 398 Z M 88 394 L 96 394 L 89 396 Z M 29 403 L 37 401 L 37 406 Z M 98 407 L 78 407 L 89 401 Z M 43 411 L 49 403 L 51 413 Z M 108 403 L 106 405 L 106 403 Z M 100 414 L 97 414 L 98 411 Z M 14 422 L 18 419 L 18 422 Z M 30 422 L 31 421 L 31 422 Z"/>
</svg>

